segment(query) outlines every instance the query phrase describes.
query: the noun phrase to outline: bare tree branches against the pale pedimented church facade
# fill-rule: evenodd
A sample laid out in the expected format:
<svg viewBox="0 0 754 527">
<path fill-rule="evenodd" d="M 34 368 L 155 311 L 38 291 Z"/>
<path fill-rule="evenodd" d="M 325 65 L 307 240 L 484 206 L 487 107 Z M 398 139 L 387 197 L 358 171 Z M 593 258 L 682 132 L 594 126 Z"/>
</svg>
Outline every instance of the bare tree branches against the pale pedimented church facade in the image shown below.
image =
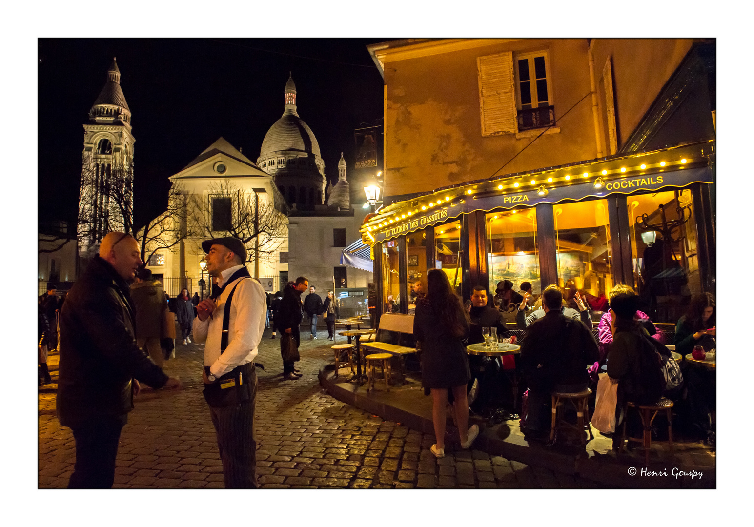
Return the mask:
<svg viewBox="0 0 754 527">
<path fill-rule="evenodd" d="M 247 247 L 249 262 L 255 254 L 262 259 L 271 256 L 287 236 L 287 207 L 277 196 L 261 198 L 264 194 L 244 191 L 230 179 L 213 183 L 207 195 L 191 196 L 189 230 L 198 237 L 237 237 Z M 217 204 L 222 198 L 229 200 L 230 207 L 213 206 L 213 201 Z"/>
</svg>

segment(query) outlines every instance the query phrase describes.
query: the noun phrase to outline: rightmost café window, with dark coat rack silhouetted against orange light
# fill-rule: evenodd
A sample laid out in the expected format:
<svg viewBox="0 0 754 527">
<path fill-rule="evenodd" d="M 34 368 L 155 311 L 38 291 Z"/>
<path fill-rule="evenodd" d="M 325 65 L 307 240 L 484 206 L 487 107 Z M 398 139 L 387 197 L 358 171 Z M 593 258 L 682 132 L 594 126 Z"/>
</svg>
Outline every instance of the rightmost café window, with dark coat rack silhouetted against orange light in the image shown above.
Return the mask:
<svg viewBox="0 0 754 527">
<path fill-rule="evenodd" d="M 639 309 L 654 322 L 676 323 L 688 308 L 691 296 L 701 292 L 691 191 L 633 195 L 626 201 L 631 225 L 633 281 L 636 293 L 642 297 Z M 678 207 L 682 208 L 686 219 L 669 231 L 671 240 L 666 239 L 660 227 L 663 224 L 661 206 L 666 225 L 680 219 Z M 657 226 L 657 230 L 642 228 L 642 214 L 647 215 L 646 223 Z"/>
</svg>

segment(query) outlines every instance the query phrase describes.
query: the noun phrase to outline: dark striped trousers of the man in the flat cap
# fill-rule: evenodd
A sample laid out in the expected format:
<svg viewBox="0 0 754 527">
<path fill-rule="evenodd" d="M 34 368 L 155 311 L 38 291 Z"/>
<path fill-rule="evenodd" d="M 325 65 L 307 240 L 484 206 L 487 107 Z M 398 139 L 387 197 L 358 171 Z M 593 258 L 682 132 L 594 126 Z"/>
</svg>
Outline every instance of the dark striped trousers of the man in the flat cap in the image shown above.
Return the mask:
<svg viewBox="0 0 754 527">
<path fill-rule="evenodd" d="M 210 406 L 212 424 L 217 434 L 217 447 L 222 460 L 225 489 L 257 488 L 254 440 L 256 372 L 252 372 L 249 382 L 253 382 L 254 385 L 250 400 L 223 408 Z"/>
</svg>

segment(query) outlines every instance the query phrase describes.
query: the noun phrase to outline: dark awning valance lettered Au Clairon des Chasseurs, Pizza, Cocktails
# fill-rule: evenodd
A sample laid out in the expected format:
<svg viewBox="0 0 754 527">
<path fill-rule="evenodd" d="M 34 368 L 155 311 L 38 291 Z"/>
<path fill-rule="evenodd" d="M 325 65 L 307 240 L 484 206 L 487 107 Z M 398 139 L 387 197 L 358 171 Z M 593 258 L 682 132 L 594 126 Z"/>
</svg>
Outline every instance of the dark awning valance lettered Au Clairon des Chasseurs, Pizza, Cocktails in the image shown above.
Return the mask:
<svg viewBox="0 0 754 527">
<path fill-rule="evenodd" d="M 474 210 L 495 210 L 498 208 L 513 209 L 525 205 L 534 207 L 537 204 L 556 204 L 563 200 L 582 200 L 584 198 L 605 198 L 611 194 L 633 194 L 642 190 L 657 190 L 664 187 L 684 187 L 694 182 L 712 183 L 712 172 L 707 167 L 692 168 L 689 170 L 673 170 L 668 172 L 653 173 L 651 175 L 627 176 L 621 179 L 608 179 L 602 188 L 594 188 L 594 178 L 589 182 L 565 185 L 549 188 L 547 195 L 540 196 L 536 189 L 524 192 L 508 192 L 506 194 L 486 195 L 474 198 L 473 195 L 458 197 L 448 205 L 443 205 L 440 210 L 423 211 L 421 216 L 412 219 L 401 220 L 397 225 L 385 228 L 383 231 L 374 232 L 372 236 L 375 242 L 388 240 L 408 232 L 416 231 L 431 225 L 436 225 L 470 213 Z M 415 201 L 415 200 L 412 200 Z M 410 202 L 406 202 L 408 204 Z M 400 214 L 400 208 L 393 210 L 392 214 Z"/>
</svg>

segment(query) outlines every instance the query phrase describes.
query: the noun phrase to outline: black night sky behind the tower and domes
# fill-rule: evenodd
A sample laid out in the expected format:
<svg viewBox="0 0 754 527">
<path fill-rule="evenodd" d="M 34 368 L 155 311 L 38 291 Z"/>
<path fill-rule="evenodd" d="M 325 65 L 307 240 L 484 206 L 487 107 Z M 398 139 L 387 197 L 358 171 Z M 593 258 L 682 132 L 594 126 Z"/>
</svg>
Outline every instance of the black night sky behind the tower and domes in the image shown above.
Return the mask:
<svg viewBox="0 0 754 527">
<path fill-rule="evenodd" d="M 366 44 L 387 40 L 40 38 L 39 219 L 75 221 L 82 125 L 112 57 L 136 138 L 134 220 L 140 226 L 164 210 L 168 176 L 219 136 L 256 162 L 265 133 L 283 114 L 289 71 L 325 175 L 337 181 L 340 152 L 352 174 L 354 128 L 382 118 L 382 77 Z"/>
</svg>

